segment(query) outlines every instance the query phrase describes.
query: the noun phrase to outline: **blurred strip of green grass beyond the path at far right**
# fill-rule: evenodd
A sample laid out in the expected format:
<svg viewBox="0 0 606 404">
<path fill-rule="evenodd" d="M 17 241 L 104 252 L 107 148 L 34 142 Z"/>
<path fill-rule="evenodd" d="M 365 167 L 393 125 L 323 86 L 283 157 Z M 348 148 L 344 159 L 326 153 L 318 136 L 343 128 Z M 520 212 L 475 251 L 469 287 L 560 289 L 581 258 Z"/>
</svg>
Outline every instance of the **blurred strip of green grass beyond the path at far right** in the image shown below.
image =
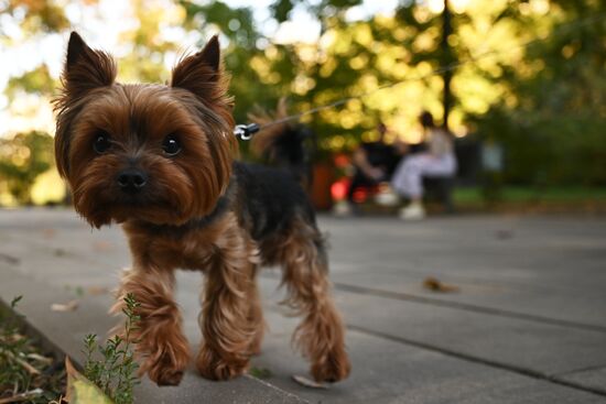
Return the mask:
<svg viewBox="0 0 606 404">
<path fill-rule="evenodd" d="M 521 187 L 506 186 L 501 189 L 501 203 L 606 203 L 606 187 Z M 479 187 L 459 187 L 454 192 L 454 200 L 461 205 L 483 204 L 484 197 Z"/>
</svg>

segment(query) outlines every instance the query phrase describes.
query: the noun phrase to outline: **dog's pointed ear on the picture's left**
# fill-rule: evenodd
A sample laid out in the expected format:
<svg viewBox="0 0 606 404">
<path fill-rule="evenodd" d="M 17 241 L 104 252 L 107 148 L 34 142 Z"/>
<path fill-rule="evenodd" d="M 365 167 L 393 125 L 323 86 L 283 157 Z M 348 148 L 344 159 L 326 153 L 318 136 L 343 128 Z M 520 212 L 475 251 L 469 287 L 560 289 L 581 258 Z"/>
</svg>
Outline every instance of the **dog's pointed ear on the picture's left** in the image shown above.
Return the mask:
<svg viewBox="0 0 606 404">
<path fill-rule="evenodd" d="M 113 58 L 105 52 L 93 51 L 80 35 L 72 32 L 62 75 L 65 95 L 77 99 L 94 88 L 110 86 L 115 79 Z"/>
</svg>

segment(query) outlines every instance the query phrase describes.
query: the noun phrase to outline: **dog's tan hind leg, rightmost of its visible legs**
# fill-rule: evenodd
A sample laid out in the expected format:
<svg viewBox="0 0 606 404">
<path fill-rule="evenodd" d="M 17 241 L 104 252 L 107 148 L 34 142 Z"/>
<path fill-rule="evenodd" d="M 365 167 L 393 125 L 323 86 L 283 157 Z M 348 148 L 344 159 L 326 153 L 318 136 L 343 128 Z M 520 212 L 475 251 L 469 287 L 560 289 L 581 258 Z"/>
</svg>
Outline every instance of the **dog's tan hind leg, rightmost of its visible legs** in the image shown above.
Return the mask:
<svg viewBox="0 0 606 404">
<path fill-rule="evenodd" d="M 284 243 L 274 250 L 283 265 L 284 303 L 303 316 L 293 336 L 295 345 L 312 362 L 316 381 L 336 382 L 350 370 L 345 351 L 345 329 L 331 296 L 324 241 L 313 223 L 299 219 Z"/>
</svg>

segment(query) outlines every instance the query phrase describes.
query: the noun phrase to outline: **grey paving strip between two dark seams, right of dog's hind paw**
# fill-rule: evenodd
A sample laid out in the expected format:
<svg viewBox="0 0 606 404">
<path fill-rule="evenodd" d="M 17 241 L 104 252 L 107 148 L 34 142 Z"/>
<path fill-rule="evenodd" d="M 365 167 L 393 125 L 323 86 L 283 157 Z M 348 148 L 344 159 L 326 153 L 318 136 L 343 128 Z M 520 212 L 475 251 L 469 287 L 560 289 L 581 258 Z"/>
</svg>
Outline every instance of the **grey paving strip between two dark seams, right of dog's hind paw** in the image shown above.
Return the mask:
<svg viewBox="0 0 606 404">
<path fill-rule="evenodd" d="M 337 296 L 349 325 L 463 356 L 541 374 L 606 364 L 604 332 L 353 293 Z"/>
</svg>

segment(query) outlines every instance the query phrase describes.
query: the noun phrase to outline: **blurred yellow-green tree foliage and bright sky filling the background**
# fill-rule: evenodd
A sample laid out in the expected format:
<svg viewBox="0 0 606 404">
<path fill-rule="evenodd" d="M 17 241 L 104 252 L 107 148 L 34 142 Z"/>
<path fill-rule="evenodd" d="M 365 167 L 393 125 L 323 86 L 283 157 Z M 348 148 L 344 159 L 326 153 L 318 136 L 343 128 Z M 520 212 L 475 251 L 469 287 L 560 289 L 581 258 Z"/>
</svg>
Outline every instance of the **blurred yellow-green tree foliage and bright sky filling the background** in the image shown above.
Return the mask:
<svg viewBox="0 0 606 404">
<path fill-rule="evenodd" d="M 0 68 L 3 144 L 34 131 L 53 134 L 50 100 L 69 30 L 111 51 L 125 81 L 170 79 L 184 51 L 218 32 L 238 122 L 256 105 L 274 108 L 282 96 L 301 112 L 365 95 L 302 119 L 317 133 L 323 159 L 375 139 L 379 121 L 394 130 L 392 137 L 419 141 L 419 112 L 444 114 L 444 81 L 432 72 L 478 57 L 453 72 L 448 123 L 457 137 L 500 143 L 506 183 L 606 183 L 600 0 L 392 0 L 382 12 L 370 12 L 379 7 L 370 0 L 242 4 L 0 0 L 0 54 L 17 62 Z M 544 40 L 520 46 L 535 37 Z M 62 188 L 52 167 L 48 173 L 43 177 Z M 2 194 L 9 178 L 0 175 Z M 28 198 L 0 196 L 0 203 L 15 200 Z"/>
</svg>

